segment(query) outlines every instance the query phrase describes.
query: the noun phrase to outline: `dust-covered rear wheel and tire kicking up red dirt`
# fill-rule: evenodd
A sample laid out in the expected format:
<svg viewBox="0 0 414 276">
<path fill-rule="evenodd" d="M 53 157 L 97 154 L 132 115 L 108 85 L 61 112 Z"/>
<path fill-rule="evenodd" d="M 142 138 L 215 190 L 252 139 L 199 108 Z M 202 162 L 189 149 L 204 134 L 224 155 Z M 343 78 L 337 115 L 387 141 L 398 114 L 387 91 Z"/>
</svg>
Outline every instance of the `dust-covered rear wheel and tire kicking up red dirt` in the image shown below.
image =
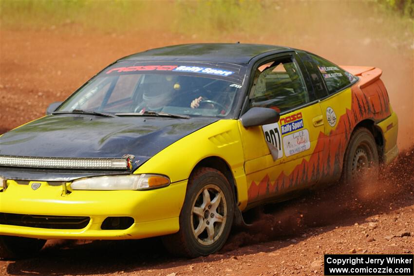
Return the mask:
<svg viewBox="0 0 414 276">
<path fill-rule="evenodd" d="M 369 169 L 369 170 L 367 170 Z M 342 181 L 354 183 L 378 176 L 378 149 L 374 136 L 366 128 L 354 131 L 345 152 Z"/>
</svg>

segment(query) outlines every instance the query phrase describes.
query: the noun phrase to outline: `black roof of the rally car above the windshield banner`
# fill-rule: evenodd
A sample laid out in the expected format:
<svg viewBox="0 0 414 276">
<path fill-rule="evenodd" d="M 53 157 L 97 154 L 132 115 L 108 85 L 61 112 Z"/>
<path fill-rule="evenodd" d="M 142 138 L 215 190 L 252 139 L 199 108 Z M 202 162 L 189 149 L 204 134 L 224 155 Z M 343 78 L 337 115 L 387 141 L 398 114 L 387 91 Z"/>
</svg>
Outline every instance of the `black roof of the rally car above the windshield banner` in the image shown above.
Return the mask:
<svg viewBox="0 0 414 276">
<path fill-rule="evenodd" d="M 288 47 L 244 43 L 182 44 L 147 50 L 118 61 L 201 61 L 247 64 L 255 56 L 292 50 Z"/>
</svg>

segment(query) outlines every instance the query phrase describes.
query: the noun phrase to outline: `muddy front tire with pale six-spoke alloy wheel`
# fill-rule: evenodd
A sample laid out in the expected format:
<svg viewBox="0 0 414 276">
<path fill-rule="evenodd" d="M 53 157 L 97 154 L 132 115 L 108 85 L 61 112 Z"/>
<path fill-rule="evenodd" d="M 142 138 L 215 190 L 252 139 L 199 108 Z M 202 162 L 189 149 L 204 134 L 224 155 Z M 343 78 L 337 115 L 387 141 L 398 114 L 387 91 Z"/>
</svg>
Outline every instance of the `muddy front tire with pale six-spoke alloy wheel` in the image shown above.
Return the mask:
<svg viewBox="0 0 414 276">
<path fill-rule="evenodd" d="M 163 243 L 176 256 L 207 256 L 225 244 L 233 216 L 234 196 L 226 177 L 213 168 L 197 168 L 188 180 L 180 230 L 163 237 Z"/>
</svg>

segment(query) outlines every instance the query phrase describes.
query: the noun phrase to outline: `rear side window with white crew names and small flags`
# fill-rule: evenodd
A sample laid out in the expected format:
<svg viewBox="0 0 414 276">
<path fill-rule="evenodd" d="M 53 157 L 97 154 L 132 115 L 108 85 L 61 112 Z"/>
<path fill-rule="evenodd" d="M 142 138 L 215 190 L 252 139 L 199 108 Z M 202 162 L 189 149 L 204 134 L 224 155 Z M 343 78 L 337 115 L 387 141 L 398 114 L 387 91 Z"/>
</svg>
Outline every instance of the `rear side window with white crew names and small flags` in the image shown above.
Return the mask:
<svg viewBox="0 0 414 276">
<path fill-rule="evenodd" d="M 355 76 L 339 68 L 338 65 L 321 58 L 317 55 L 311 55 L 318 66 L 319 72 L 325 82 L 329 94 L 338 92 L 352 82 L 356 81 Z"/>
</svg>

